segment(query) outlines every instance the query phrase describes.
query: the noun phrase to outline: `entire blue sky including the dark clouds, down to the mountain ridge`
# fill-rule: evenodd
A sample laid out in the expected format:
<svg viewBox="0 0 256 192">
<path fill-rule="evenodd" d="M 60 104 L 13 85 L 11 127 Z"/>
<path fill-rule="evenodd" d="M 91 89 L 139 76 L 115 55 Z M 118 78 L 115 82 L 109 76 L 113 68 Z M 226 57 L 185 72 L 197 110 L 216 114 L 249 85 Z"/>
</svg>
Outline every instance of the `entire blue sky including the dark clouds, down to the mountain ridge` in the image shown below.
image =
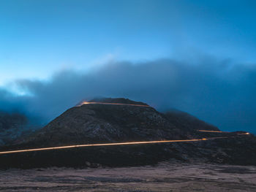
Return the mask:
<svg viewBox="0 0 256 192">
<path fill-rule="evenodd" d="M 95 96 L 256 133 L 255 1 L 0 2 L 0 110 L 45 121 Z"/>
</svg>

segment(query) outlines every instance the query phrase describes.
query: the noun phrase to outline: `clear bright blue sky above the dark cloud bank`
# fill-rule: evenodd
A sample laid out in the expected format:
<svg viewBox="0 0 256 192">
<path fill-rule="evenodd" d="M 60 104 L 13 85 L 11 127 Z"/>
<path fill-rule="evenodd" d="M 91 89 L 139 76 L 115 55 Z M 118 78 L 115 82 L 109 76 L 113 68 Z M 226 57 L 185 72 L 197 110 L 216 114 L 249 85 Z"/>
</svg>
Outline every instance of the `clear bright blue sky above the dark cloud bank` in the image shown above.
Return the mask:
<svg viewBox="0 0 256 192">
<path fill-rule="evenodd" d="M 254 1 L 0 2 L 0 84 L 111 59 L 255 62 Z"/>
</svg>

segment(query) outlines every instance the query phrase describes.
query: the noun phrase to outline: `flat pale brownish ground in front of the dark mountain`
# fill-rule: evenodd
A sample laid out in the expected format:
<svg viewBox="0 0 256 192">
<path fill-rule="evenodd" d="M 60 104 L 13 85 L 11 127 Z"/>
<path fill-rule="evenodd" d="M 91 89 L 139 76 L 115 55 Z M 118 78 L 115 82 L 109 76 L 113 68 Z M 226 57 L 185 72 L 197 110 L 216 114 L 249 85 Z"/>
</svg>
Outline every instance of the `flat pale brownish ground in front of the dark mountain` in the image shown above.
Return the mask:
<svg viewBox="0 0 256 192">
<path fill-rule="evenodd" d="M 256 191 L 256 166 L 159 164 L 129 168 L 9 169 L 0 191 Z"/>
</svg>

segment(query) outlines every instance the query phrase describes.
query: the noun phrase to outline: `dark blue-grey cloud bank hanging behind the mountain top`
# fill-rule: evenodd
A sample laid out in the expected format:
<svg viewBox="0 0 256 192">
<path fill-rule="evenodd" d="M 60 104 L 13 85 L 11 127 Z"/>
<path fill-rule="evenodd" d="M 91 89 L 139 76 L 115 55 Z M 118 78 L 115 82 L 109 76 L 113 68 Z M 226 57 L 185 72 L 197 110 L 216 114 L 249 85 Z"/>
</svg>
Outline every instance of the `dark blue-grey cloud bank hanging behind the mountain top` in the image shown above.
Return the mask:
<svg viewBox="0 0 256 192">
<path fill-rule="evenodd" d="M 87 74 L 64 71 L 49 82 L 15 83 L 31 96 L 13 96 L 0 89 L 0 110 L 51 120 L 82 99 L 126 97 L 161 111 L 189 112 L 223 130 L 256 132 L 255 65 L 214 58 L 112 62 Z"/>
</svg>

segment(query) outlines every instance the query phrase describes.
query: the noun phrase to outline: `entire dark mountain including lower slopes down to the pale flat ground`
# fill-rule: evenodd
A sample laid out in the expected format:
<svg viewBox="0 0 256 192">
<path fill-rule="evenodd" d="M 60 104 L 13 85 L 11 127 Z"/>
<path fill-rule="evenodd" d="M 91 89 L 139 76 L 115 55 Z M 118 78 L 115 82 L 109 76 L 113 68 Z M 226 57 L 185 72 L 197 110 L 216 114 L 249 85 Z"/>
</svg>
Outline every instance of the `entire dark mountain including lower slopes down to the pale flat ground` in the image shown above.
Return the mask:
<svg viewBox="0 0 256 192">
<path fill-rule="evenodd" d="M 134 166 L 159 161 L 207 161 L 256 164 L 252 134 L 211 133 L 215 126 L 185 112 L 157 112 L 129 99 L 94 99 L 72 107 L 47 126 L 0 150 L 223 137 L 200 142 L 67 148 L 0 155 L 1 167 Z M 242 133 L 242 132 L 238 132 Z M 248 158 L 250 157 L 250 158 Z"/>
</svg>

